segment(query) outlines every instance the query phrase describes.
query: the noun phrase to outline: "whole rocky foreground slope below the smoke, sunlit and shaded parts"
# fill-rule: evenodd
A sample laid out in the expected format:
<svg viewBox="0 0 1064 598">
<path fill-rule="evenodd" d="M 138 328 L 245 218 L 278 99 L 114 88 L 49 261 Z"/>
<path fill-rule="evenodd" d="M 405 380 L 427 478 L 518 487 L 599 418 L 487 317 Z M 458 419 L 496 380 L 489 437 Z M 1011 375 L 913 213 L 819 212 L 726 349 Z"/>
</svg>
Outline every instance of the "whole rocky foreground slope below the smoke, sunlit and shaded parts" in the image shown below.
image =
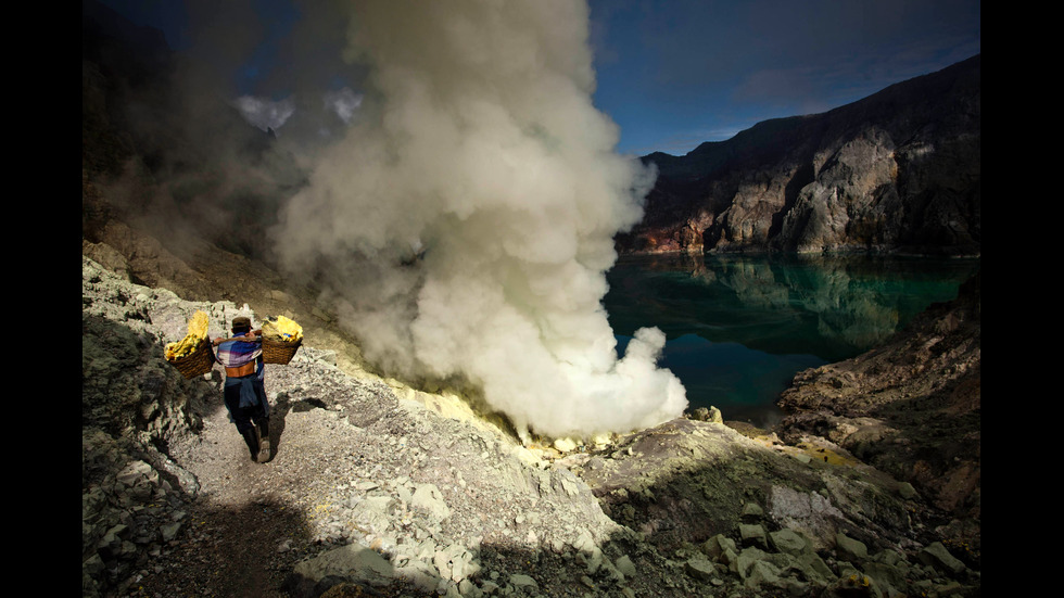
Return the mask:
<svg viewBox="0 0 1064 598">
<path fill-rule="evenodd" d="M 979 591 L 937 509 L 845 449 L 712 417 L 523 446 L 445 395 L 347 376 L 313 336 L 270 368 L 277 448 L 253 463 L 219 373 L 162 360 L 195 309 L 212 334 L 259 317 L 83 257 L 85 595 Z"/>
</svg>

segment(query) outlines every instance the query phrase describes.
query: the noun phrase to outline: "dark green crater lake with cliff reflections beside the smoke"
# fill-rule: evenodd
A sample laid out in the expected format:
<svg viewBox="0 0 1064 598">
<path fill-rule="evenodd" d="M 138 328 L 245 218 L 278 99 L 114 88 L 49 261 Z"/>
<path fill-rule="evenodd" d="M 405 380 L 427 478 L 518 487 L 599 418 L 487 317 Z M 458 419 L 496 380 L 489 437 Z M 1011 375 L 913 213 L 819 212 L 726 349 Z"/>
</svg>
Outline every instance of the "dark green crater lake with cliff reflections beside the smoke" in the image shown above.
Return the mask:
<svg viewBox="0 0 1064 598">
<path fill-rule="evenodd" d="M 769 425 L 795 373 L 872 348 L 957 296 L 978 259 L 892 256 L 624 256 L 604 304 L 623 351 L 641 327 L 692 407 Z"/>
</svg>

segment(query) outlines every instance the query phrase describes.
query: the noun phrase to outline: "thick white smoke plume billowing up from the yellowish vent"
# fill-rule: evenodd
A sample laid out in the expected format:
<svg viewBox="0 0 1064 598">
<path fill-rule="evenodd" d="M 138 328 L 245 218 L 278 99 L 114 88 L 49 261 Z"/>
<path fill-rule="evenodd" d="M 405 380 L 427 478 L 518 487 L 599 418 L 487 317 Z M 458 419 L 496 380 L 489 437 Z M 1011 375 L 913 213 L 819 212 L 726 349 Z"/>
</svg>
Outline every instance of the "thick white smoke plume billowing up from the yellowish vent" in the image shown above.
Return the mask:
<svg viewBox="0 0 1064 598">
<path fill-rule="evenodd" d="M 644 329 L 619 358 L 601 306 L 612 237 L 651 181 L 592 104 L 587 8 L 572 0 L 359 1 L 347 56 L 360 116 L 278 229 L 327 280 L 368 357 L 461 379 L 518 430 L 582 436 L 680 415 Z M 418 257 L 415 257 L 418 256 Z"/>
</svg>

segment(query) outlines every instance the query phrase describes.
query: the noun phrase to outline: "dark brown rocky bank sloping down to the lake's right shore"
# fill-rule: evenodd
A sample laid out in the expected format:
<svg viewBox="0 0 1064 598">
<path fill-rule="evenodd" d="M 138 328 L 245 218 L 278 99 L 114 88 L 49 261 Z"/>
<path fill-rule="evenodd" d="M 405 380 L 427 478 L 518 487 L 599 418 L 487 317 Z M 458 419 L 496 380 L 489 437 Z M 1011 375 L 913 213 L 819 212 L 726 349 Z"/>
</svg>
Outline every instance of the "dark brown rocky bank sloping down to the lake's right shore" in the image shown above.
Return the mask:
<svg viewBox="0 0 1064 598">
<path fill-rule="evenodd" d="M 890 341 L 799 372 L 780 405 L 790 443 L 825 438 L 926 493 L 953 517 L 980 513 L 981 275 Z"/>
</svg>

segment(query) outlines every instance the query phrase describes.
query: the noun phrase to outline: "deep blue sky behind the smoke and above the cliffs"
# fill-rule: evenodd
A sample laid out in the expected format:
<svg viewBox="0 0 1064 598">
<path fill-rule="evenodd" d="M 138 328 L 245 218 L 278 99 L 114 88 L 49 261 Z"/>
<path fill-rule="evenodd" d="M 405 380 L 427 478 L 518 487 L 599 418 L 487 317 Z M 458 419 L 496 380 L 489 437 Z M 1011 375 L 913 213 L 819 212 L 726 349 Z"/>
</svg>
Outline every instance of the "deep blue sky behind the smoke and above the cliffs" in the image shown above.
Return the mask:
<svg viewBox="0 0 1064 598">
<path fill-rule="evenodd" d="M 289 0 L 104 3 L 162 28 L 178 50 L 211 39 L 190 22 L 239 23 L 227 35 L 231 55 L 211 54 L 231 69 L 219 76 L 231 78 L 235 94 L 282 99 L 289 91 L 279 81 L 296 76 L 286 78 L 279 66 L 286 51 L 314 51 L 305 39 L 292 40 L 300 12 Z M 204 17 L 217 7 L 232 14 Z M 618 151 L 637 155 L 681 155 L 758 122 L 824 112 L 981 51 L 978 0 L 591 0 L 590 7 L 594 101 L 621 128 Z M 320 54 L 301 64 L 315 64 L 319 82 L 332 76 L 339 88 L 344 65 L 324 55 L 326 40 L 313 41 L 321 42 Z M 302 71 L 299 77 L 312 75 Z"/>
</svg>

